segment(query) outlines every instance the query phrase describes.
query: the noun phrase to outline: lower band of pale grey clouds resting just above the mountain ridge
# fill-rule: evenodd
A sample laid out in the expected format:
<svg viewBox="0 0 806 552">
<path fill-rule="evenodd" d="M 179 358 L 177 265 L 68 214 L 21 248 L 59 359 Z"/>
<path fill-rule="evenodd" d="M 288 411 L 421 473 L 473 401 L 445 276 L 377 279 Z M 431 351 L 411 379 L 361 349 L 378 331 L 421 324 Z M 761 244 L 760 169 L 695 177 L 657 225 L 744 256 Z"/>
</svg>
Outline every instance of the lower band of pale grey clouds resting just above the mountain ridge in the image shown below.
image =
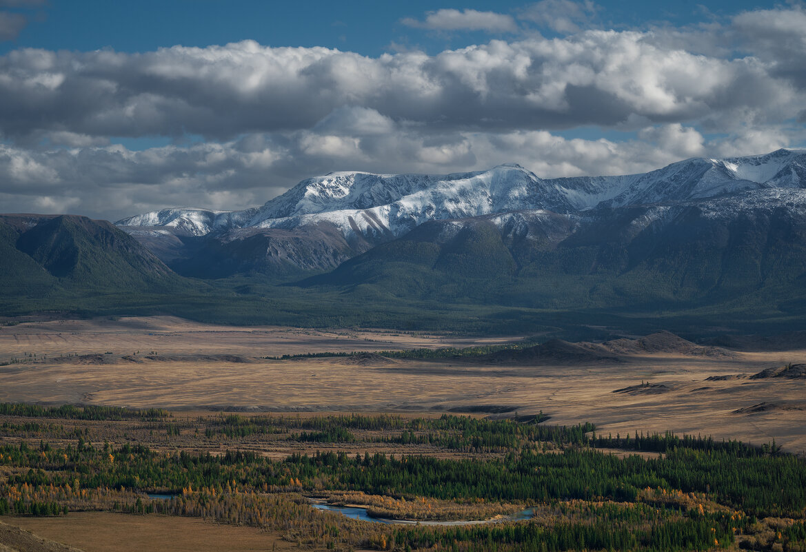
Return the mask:
<svg viewBox="0 0 806 552">
<path fill-rule="evenodd" d="M 376 117 L 355 113 L 359 122 Z M 708 142 L 679 123 L 646 127 L 636 139 L 622 142 L 565 139 L 548 131 L 422 133 L 394 122 L 384 122 L 388 131 L 383 134 L 361 124 L 346 134 L 334 133 L 324 124 L 328 119 L 314 130 L 144 151 L 120 145 L 2 146 L 0 204 L 6 212 L 80 206 L 82 214 L 113 220 L 166 206 L 234 210 L 261 205 L 305 177 L 334 170 L 444 173 L 516 162 L 546 178 L 614 175 L 649 171 L 689 156 L 772 151 L 786 136 L 750 131 Z"/>
</svg>

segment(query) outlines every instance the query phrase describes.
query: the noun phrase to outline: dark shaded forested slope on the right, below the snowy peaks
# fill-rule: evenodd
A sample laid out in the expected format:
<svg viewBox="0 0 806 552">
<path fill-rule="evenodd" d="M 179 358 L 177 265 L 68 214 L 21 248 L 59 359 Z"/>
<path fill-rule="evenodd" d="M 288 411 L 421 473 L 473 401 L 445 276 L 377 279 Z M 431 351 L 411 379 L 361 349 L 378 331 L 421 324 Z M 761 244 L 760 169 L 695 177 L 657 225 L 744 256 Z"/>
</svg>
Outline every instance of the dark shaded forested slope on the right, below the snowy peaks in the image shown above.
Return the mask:
<svg viewBox="0 0 806 552">
<path fill-rule="evenodd" d="M 739 194 L 729 210 L 715 198 L 433 221 L 303 284 L 552 309 L 665 309 L 767 293 L 783 308 L 806 292 L 806 209 L 787 206 L 806 206 L 806 190 L 760 194 L 768 201 Z"/>
</svg>

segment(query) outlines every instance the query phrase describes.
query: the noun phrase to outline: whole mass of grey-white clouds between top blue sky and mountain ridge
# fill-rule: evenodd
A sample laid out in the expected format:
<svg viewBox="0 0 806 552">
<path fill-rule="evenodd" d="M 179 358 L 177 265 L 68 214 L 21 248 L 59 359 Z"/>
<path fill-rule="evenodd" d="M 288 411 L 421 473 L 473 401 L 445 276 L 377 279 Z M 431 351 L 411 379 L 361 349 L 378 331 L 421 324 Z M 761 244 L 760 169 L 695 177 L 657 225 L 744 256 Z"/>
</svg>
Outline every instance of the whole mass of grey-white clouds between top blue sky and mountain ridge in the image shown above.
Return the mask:
<svg viewBox="0 0 806 552">
<path fill-rule="evenodd" d="M 737 15 L 711 31 L 603 31 L 587 28 L 592 4 L 538 6 L 533 20 L 571 34 L 377 57 L 248 40 L 9 52 L 0 56 L 0 205 L 107 218 L 168 205 L 241 209 L 334 170 L 513 161 L 545 177 L 625 174 L 806 143 L 800 8 Z M 470 10 L 456 13 L 470 28 Z M 563 13 L 575 27 L 558 23 Z M 721 42 L 704 38 L 715 29 Z M 563 138 L 577 127 L 630 138 Z M 181 146 L 187 135 L 207 141 Z M 173 145 L 114 144 L 155 136 Z"/>
</svg>

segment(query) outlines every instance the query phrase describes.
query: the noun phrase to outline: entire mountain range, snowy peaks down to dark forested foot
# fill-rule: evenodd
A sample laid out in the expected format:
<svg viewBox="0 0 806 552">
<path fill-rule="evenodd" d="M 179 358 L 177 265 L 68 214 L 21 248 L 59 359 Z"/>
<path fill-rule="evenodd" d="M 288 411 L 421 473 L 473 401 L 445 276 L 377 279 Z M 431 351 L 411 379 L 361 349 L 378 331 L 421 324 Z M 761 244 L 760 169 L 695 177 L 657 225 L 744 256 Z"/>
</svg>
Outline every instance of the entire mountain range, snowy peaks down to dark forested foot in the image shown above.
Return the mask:
<svg viewBox="0 0 806 552">
<path fill-rule="evenodd" d="M 148 312 L 170 304 L 239 322 L 799 329 L 806 150 L 628 176 L 542 179 L 517 164 L 442 176 L 334 172 L 240 211 L 171 208 L 115 226 L 6 215 L 0 248 L 12 268 L 6 290 L 38 308 L 40 297 L 101 289 L 137 295 L 120 300 L 130 306 L 150 294 Z"/>
</svg>

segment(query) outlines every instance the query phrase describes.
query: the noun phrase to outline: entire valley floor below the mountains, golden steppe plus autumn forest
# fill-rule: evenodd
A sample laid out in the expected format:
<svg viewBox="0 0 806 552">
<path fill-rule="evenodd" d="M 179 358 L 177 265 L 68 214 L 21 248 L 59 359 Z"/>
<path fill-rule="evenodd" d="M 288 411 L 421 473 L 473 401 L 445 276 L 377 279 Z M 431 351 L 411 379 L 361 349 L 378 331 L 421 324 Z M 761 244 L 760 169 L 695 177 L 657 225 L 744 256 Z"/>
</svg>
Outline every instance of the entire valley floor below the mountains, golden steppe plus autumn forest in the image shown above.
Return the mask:
<svg viewBox="0 0 806 552">
<path fill-rule="evenodd" d="M 484 542 L 803 552 L 804 377 L 751 376 L 789 364 L 802 371 L 806 344 L 675 348 L 683 340 L 670 336 L 656 348 L 625 341 L 612 355 L 560 343 L 532 356 L 405 358 L 353 353 L 522 336 L 168 317 L 0 326 L 0 513 L 18 514 L 2 516 L 0 552 L 480 552 Z M 341 355 L 311 356 L 326 352 Z M 649 438 L 665 431 L 714 442 L 675 448 Z M 641 446 L 622 440 L 638 433 Z M 800 459 L 722 439 L 775 441 Z M 534 508 L 534 522 L 474 525 L 476 533 L 382 525 L 319 512 L 310 500 L 411 523 Z"/>
</svg>

